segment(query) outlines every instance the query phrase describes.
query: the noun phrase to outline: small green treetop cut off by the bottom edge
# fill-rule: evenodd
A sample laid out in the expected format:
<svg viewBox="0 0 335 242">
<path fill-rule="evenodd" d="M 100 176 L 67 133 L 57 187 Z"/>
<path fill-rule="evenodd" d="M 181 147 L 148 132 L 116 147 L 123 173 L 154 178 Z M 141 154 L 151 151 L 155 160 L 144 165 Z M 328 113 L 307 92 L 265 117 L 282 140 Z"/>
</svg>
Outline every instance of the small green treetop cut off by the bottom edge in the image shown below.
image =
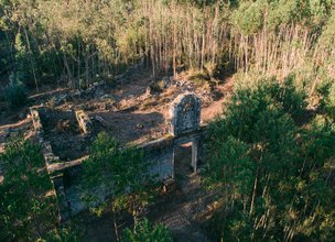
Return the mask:
<svg viewBox="0 0 335 242">
<path fill-rule="evenodd" d="M 123 231 L 122 242 L 172 242 L 169 229 L 162 224 L 152 226 L 148 219 L 138 222 L 133 231 Z"/>
</svg>

